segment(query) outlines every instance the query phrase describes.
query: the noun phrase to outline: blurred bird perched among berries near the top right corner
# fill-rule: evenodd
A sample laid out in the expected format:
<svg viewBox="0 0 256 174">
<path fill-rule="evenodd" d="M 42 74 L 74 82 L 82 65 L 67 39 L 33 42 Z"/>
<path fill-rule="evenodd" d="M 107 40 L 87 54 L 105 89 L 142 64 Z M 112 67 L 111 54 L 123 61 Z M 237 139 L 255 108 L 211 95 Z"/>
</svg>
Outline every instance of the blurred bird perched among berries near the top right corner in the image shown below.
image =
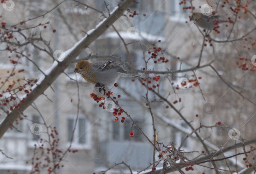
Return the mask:
<svg viewBox="0 0 256 174">
<path fill-rule="evenodd" d="M 196 21 L 196 24 L 201 27 L 204 28 L 205 30 L 212 30 L 214 29 L 214 27 L 216 27 L 219 23 L 221 22 L 226 22 L 223 20 L 220 20 L 219 18 L 221 17 L 221 15 L 204 15 L 202 13 L 198 13 L 195 12 L 192 14 L 192 17 L 190 19 L 190 21 Z"/>
</svg>

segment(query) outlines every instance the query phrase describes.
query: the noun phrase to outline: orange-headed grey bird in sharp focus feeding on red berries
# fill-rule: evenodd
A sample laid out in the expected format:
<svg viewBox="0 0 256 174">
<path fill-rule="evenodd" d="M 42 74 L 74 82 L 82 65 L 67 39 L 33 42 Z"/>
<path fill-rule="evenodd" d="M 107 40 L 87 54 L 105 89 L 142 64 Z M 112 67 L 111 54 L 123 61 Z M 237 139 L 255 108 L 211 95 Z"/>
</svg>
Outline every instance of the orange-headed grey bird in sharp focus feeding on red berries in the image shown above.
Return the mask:
<svg viewBox="0 0 256 174">
<path fill-rule="evenodd" d="M 100 61 L 90 63 L 86 60 L 80 60 L 76 63 L 74 73 L 82 75 L 84 80 L 96 84 L 95 86 L 113 86 L 119 77 L 145 77 L 142 75 L 132 74 L 121 67 L 125 63 L 116 61 Z"/>
</svg>

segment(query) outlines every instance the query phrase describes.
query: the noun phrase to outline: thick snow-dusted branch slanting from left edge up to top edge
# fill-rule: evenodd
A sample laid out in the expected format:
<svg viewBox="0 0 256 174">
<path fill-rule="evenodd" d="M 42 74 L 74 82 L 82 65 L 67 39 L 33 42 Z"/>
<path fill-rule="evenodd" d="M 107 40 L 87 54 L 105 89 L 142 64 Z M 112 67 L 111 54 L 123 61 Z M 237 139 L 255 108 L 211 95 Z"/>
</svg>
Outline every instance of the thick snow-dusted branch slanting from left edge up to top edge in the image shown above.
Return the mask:
<svg viewBox="0 0 256 174">
<path fill-rule="evenodd" d="M 69 64 L 84 50 L 86 49 L 94 40 L 96 40 L 102 33 L 104 33 L 115 21 L 119 19 L 124 13 L 124 11 L 130 7 L 135 0 L 125 0 L 120 4 L 119 8 L 116 9 L 104 22 L 101 23 L 90 35 L 84 37 L 78 44 L 69 50 L 69 54 L 66 55 L 62 62 L 58 62 L 58 65 L 52 69 L 52 71 L 45 76 L 44 80 L 34 88 L 29 96 L 24 100 L 19 109 L 15 109 L 10 112 L 7 117 L 0 124 L 0 138 L 9 129 L 9 123 L 13 123 L 20 113 L 27 109 L 35 99 L 37 99 L 44 91 L 50 87 L 50 85 L 57 79 L 57 77 L 64 72 L 64 70 L 69 67 Z"/>
</svg>

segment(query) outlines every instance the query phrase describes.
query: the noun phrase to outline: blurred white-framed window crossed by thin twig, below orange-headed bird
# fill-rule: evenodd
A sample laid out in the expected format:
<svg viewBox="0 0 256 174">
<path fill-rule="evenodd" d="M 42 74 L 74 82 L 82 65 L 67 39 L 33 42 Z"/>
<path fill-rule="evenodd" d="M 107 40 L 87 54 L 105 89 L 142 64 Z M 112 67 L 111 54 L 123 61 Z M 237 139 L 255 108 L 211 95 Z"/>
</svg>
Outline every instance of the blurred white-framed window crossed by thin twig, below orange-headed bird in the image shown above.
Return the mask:
<svg viewBox="0 0 256 174">
<path fill-rule="evenodd" d="M 68 141 L 71 141 L 73 130 L 75 128 L 76 118 L 68 118 L 67 127 L 68 127 Z M 88 121 L 79 117 L 76 124 L 76 129 L 73 135 L 72 144 L 84 147 L 89 143 L 89 125 Z M 79 147 L 78 147 L 79 148 Z"/>
</svg>

